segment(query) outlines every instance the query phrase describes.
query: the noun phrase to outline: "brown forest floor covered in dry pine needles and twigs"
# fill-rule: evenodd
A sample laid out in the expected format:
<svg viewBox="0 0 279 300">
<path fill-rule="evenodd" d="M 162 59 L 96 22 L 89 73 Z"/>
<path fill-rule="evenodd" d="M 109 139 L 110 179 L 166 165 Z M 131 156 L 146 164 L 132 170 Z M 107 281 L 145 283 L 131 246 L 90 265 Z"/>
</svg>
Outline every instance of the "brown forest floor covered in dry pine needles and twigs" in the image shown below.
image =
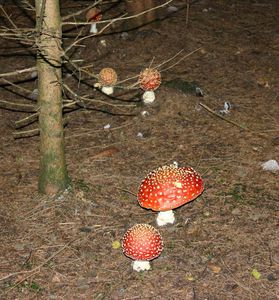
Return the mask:
<svg viewBox="0 0 279 300">
<path fill-rule="evenodd" d="M 89 2 L 61 1 L 62 14 Z M 185 2 L 140 29 L 115 23 L 70 52 L 95 74 L 115 68 L 120 83 L 109 98 L 66 64 L 64 83 L 94 100 L 65 112 L 72 188 L 58 199 L 37 193 L 39 137 L 14 138 L 37 122 L 16 129 L 30 113 L 0 110 L 1 299 L 279 299 L 279 173 L 261 166 L 279 162 L 279 3 L 194 1 L 187 19 Z M 32 25 L 17 5 L 5 8 Z M 120 3 L 105 18 L 123 12 Z M 64 47 L 80 32 L 66 28 Z M 2 39 L 1 73 L 34 66 L 32 51 Z M 123 87 L 149 66 L 162 85 L 145 105 L 136 85 Z M 1 100 L 34 103 L 35 78 L 6 79 L 27 90 L 1 81 Z M 197 170 L 205 191 L 159 228 L 137 191 L 174 161 Z M 150 271 L 133 271 L 119 244 L 136 223 L 164 241 Z"/>
</svg>

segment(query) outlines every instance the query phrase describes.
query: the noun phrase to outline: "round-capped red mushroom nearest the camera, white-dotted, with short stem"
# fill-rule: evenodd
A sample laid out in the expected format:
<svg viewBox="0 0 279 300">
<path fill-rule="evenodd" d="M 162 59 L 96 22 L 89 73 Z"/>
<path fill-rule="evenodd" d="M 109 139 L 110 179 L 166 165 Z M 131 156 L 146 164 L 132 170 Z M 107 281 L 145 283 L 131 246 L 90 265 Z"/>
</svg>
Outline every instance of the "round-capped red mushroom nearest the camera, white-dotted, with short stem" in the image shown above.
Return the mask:
<svg viewBox="0 0 279 300">
<path fill-rule="evenodd" d="M 124 235 L 123 253 L 132 258 L 133 270 L 140 272 L 150 270 L 149 261 L 158 257 L 163 251 L 162 237 L 157 229 L 148 224 L 136 224 Z"/>
</svg>

